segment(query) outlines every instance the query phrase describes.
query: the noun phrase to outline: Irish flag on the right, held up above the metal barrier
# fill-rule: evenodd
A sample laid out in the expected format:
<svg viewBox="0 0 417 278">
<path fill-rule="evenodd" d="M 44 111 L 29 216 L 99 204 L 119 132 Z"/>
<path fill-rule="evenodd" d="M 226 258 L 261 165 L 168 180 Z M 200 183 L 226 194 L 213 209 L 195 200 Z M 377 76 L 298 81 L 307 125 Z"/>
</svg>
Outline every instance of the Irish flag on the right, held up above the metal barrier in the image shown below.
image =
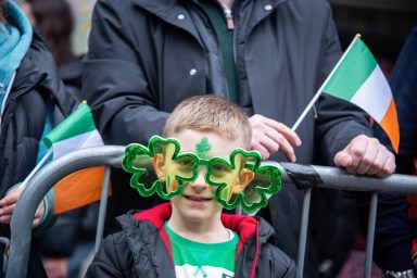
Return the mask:
<svg viewBox="0 0 417 278">
<path fill-rule="evenodd" d="M 359 35 L 330 73 L 323 91 L 362 108 L 382 127 L 395 152 L 399 151 L 400 128 L 391 88 Z"/>
</svg>

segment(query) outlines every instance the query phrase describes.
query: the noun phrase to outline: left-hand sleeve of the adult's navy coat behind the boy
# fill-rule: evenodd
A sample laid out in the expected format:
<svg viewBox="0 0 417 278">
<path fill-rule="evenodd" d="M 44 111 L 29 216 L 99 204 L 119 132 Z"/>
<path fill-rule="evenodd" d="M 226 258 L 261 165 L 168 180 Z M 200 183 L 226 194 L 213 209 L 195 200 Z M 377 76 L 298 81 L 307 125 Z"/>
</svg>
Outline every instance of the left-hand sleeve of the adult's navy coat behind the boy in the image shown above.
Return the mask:
<svg viewBox="0 0 417 278">
<path fill-rule="evenodd" d="M 135 33 L 123 18 L 129 9 L 129 1 L 97 2 L 84 60 L 83 93 L 111 144 L 144 143 L 162 132 L 168 116 L 157 109 L 157 77 L 149 71 L 157 66 L 150 59 L 155 49 L 147 43 L 147 34 Z"/>
</svg>

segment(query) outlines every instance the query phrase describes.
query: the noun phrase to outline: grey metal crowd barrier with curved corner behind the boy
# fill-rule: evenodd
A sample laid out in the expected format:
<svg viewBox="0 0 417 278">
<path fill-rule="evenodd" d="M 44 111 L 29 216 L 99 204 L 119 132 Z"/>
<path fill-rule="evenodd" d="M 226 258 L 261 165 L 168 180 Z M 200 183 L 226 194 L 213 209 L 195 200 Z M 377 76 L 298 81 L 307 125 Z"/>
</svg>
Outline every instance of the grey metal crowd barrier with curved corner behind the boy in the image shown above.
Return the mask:
<svg viewBox="0 0 417 278">
<path fill-rule="evenodd" d="M 31 222 L 36 208 L 45 194 L 61 178 L 83 168 L 105 165 L 106 169 L 121 167 L 125 147 L 104 146 L 86 148 L 61 156 L 52 161 L 39 170 L 29 181 L 18 199 L 11 222 L 10 257 L 7 267 L 7 278 L 26 277 L 28 254 L 31 240 Z M 307 233 L 309 214 L 309 193 L 312 187 L 326 187 L 354 191 L 371 191 L 371 204 L 369 212 L 369 225 L 367 237 L 367 250 L 365 260 L 365 277 L 370 277 L 375 220 L 377 212 L 378 192 L 391 192 L 397 194 L 417 194 L 417 177 L 407 175 L 391 175 L 387 178 L 372 178 L 367 176 L 350 175 L 345 172 L 324 166 L 300 165 L 292 163 L 264 162 L 264 165 L 278 166 L 282 172 L 283 182 L 293 182 L 305 188 L 301 235 L 299 242 L 298 270 L 302 277 L 305 257 L 305 239 Z M 143 160 L 139 165 L 152 169 L 151 160 Z M 110 170 L 104 174 L 108 182 Z M 262 177 L 261 177 L 262 179 Z M 104 184 L 104 182 L 103 182 Z M 108 185 L 108 184 L 106 184 Z M 102 195 L 106 197 L 108 186 L 103 187 Z M 106 198 L 102 198 L 100 204 L 100 217 L 96 251 L 101 242 L 102 227 L 104 223 Z"/>
</svg>

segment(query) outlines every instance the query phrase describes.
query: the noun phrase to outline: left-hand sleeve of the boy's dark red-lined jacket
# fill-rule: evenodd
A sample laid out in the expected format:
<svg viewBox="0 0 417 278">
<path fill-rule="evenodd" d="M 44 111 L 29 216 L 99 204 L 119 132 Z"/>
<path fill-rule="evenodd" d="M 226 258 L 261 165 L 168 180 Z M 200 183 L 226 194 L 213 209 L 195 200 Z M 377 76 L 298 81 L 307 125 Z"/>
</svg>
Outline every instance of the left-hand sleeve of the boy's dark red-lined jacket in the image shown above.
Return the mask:
<svg viewBox="0 0 417 278">
<path fill-rule="evenodd" d="M 86 278 L 135 277 L 134 260 L 122 232 L 108 236 L 87 269 Z"/>
</svg>

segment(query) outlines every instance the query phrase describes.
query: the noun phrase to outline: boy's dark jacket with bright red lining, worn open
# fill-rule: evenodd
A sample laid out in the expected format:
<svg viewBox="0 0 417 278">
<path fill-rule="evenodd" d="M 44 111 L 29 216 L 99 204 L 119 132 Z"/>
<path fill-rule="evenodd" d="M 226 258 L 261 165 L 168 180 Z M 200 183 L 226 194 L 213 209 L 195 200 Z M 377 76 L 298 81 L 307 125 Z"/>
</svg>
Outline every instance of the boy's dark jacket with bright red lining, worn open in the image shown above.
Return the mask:
<svg viewBox="0 0 417 278">
<path fill-rule="evenodd" d="M 103 241 L 86 277 L 175 278 L 169 238 L 164 229 L 170 213 L 170 204 L 162 204 L 117 217 L 123 231 Z M 295 277 L 294 262 L 269 242 L 274 229 L 265 220 L 223 214 L 222 222 L 240 236 L 235 277 Z"/>
</svg>

